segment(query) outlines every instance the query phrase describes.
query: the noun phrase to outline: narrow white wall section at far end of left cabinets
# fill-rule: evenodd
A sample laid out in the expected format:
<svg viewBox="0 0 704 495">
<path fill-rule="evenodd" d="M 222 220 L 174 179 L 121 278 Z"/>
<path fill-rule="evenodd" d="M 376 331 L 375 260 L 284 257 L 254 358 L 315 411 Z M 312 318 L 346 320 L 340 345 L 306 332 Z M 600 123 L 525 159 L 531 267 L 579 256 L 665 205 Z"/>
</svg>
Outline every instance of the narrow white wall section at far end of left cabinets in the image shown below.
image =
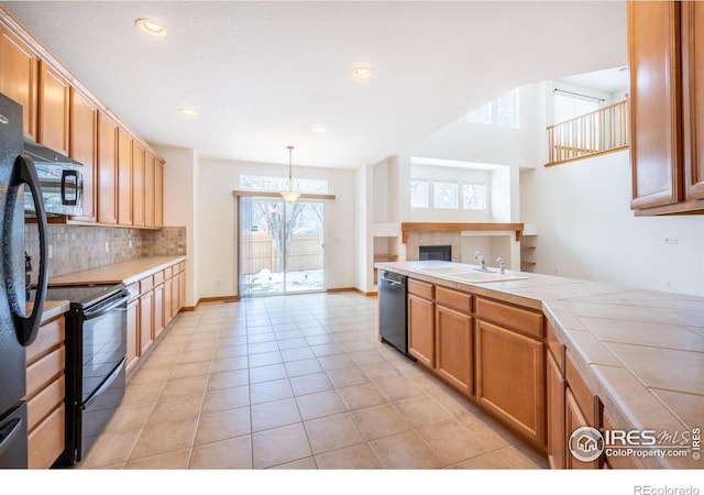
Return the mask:
<svg viewBox="0 0 704 495">
<path fill-rule="evenodd" d="M 164 166 L 164 224 L 186 227 L 186 306 L 199 299 L 199 166 L 194 150 L 154 146 Z"/>
</svg>

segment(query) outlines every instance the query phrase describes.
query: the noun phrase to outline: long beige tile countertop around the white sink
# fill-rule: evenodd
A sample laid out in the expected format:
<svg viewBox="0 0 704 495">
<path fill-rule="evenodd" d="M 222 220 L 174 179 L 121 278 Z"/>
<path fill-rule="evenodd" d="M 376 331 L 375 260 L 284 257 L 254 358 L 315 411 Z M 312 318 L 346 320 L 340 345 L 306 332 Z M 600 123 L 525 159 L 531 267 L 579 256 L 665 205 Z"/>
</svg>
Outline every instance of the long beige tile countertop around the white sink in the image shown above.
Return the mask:
<svg viewBox="0 0 704 495">
<path fill-rule="evenodd" d="M 540 309 L 619 426 L 657 435 L 704 429 L 703 297 L 513 271 L 506 273 L 526 278 L 466 284 L 419 272 L 428 263 L 450 266 L 448 262 L 375 266 Z M 704 469 L 704 460 L 691 454 L 639 461 L 645 468 Z"/>
</svg>

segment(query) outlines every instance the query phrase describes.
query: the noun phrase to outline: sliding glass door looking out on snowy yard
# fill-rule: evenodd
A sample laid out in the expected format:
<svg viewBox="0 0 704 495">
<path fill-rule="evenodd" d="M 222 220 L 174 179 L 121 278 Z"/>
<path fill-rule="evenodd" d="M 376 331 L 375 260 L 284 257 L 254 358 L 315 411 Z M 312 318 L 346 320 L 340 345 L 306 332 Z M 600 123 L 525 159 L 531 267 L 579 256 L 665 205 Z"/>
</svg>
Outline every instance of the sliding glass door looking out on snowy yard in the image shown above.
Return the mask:
<svg viewBox="0 0 704 495">
<path fill-rule="evenodd" d="M 322 202 L 242 196 L 239 211 L 242 297 L 324 289 Z"/>
</svg>

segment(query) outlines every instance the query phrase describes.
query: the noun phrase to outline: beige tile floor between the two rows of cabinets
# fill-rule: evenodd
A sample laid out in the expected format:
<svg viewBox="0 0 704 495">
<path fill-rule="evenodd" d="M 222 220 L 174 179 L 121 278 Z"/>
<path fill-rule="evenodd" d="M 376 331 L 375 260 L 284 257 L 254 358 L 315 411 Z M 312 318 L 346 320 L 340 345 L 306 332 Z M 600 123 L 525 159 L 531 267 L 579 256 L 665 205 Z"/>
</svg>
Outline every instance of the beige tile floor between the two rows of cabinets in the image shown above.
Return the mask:
<svg viewBox="0 0 704 495">
<path fill-rule="evenodd" d="M 534 469 L 546 460 L 377 339 L 354 293 L 180 314 L 80 469 Z"/>
</svg>

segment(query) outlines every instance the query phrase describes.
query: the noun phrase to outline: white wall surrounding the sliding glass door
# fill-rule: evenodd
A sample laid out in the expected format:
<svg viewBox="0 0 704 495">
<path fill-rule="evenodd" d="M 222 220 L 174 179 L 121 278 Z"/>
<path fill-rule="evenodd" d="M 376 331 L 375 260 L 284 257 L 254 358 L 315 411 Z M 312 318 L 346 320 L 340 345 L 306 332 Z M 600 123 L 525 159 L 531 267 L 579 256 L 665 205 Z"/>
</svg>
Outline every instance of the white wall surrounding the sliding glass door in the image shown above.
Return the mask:
<svg viewBox="0 0 704 495">
<path fill-rule="evenodd" d="M 200 160 L 200 297 L 238 295 L 237 199 L 232 191 L 240 188 L 241 174 L 286 177 L 288 167 Z M 294 178 L 329 182 L 329 194 L 337 199 L 324 201 L 326 285 L 354 287 L 354 172 L 295 166 Z"/>
</svg>

